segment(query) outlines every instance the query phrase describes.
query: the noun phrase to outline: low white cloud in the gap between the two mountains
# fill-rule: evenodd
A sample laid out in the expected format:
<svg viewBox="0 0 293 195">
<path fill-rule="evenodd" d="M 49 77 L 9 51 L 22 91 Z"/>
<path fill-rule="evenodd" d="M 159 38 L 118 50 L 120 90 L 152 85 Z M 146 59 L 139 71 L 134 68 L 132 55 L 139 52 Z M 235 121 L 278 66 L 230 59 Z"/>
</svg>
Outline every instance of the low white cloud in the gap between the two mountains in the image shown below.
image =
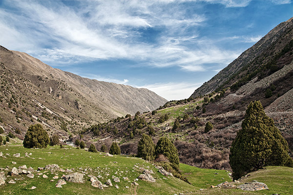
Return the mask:
<svg viewBox="0 0 293 195">
<path fill-rule="evenodd" d="M 179 100 L 189 98 L 195 89 L 200 87 L 202 83 L 156 83 L 145 86 L 135 86 L 138 88 L 149 89 L 167 100 Z"/>
</svg>

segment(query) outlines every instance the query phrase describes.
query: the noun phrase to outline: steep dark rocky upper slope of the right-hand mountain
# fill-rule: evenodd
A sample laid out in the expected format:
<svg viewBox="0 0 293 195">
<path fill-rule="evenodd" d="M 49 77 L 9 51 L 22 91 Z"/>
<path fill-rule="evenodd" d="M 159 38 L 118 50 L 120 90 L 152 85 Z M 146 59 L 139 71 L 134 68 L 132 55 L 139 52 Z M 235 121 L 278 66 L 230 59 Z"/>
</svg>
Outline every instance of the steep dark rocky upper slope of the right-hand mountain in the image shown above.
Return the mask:
<svg viewBox="0 0 293 195">
<path fill-rule="evenodd" d="M 292 61 L 293 18 L 280 23 L 251 48 L 205 82 L 191 95 L 195 98 L 223 88 L 237 88 L 253 78 L 264 78 Z"/>
</svg>

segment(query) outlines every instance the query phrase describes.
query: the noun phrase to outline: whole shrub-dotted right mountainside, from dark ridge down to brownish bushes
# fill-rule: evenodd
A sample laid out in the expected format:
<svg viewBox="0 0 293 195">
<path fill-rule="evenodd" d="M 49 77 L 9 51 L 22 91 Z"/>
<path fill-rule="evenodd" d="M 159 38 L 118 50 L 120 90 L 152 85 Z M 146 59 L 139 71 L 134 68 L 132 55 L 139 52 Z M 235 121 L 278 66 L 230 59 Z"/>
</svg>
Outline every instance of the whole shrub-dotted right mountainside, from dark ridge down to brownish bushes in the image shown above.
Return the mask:
<svg viewBox="0 0 293 195">
<path fill-rule="evenodd" d="M 190 98 L 169 101 L 152 113 L 116 118 L 82 134 L 98 149 L 115 140 L 130 155 L 137 153 L 142 134 L 151 135 L 154 143 L 166 136 L 176 146 L 180 162 L 230 170 L 230 145 L 248 104 L 255 100 L 272 117 L 293 156 L 293 19 L 275 27 Z M 213 125 L 209 132 L 207 122 Z"/>
</svg>

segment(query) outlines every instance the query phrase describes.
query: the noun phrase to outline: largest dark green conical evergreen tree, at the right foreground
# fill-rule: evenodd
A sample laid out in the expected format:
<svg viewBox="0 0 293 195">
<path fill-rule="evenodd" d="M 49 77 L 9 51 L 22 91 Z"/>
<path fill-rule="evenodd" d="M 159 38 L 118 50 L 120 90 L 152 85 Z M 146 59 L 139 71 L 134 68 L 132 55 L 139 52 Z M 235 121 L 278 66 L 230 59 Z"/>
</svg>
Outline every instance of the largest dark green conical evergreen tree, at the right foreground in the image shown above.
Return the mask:
<svg viewBox="0 0 293 195">
<path fill-rule="evenodd" d="M 230 166 L 233 178 L 263 166 L 293 166 L 288 155 L 288 143 L 268 117 L 260 101 L 251 102 L 230 148 Z"/>
</svg>

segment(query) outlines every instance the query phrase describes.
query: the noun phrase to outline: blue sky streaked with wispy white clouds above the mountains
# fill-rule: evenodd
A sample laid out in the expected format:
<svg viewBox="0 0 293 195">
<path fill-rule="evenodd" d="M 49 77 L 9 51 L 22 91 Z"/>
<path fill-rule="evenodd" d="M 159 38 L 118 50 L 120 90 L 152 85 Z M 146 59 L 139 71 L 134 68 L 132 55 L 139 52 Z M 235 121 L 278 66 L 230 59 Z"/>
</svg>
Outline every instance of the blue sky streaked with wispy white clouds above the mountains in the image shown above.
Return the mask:
<svg viewBox="0 0 293 195">
<path fill-rule="evenodd" d="M 183 99 L 291 17 L 292 0 L 0 0 L 0 45 Z"/>
</svg>

